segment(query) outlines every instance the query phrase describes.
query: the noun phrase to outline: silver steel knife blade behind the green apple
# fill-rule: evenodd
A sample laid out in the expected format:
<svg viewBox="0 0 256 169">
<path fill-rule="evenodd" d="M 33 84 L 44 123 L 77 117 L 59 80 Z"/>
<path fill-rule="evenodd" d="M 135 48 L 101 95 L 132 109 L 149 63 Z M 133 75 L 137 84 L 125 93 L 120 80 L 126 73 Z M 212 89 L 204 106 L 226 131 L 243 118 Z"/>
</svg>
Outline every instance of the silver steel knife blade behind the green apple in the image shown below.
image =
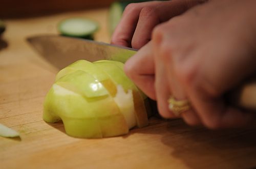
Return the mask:
<svg viewBox="0 0 256 169">
<path fill-rule="evenodd" d="M 58 35 L 39 35 L 27 41 L 53 66 L 62 69 L 78 60 L 114 60 L 124 63 L 136 49 Z"/>
</svg>

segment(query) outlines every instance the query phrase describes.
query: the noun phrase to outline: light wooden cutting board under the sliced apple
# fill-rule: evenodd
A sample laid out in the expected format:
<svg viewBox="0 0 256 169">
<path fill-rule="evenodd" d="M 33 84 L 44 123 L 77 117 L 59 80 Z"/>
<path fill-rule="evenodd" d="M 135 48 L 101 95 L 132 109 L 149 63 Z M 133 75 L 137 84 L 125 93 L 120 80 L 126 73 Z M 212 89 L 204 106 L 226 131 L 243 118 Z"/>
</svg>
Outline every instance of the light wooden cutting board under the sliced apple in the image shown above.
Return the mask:
<svg viewBox="0 0 256 169">
<path fill-rule="evenodd" d="M 56 24 L 73 16 L 99 22 L 98 41 L 109 42 L 107 9 L 7 19 L 0 42 L 0 123 L 20 138 L 0 137 L 0 168 L 252 168 L 256 125 L 211 131 L 181 119 L 150 118 L 129 134 L 84 139 L 66 135 L 61 123 L 42 120 L 42 103 L 57 69 L 29 46 L 26 37 L 57 34 Z"/>
</svg>

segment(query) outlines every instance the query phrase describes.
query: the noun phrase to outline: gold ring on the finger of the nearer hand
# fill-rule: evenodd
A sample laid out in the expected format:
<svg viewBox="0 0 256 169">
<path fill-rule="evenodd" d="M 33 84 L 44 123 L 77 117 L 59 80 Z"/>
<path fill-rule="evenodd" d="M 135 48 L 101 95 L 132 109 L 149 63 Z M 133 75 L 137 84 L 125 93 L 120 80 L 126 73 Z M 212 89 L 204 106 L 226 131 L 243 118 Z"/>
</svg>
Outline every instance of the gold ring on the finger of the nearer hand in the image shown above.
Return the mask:
<svg viewBox="0 0 256 169">
<path fill-rule="evenodd" d="M 168 99 L 168 107 L 169 110 L 175 114 L 175 116 L 180 116 L 182 112 L 191 109 L 190 102 L 187 99 L 176 100 L 174 96 L 170 96 Z"/>
</svg>

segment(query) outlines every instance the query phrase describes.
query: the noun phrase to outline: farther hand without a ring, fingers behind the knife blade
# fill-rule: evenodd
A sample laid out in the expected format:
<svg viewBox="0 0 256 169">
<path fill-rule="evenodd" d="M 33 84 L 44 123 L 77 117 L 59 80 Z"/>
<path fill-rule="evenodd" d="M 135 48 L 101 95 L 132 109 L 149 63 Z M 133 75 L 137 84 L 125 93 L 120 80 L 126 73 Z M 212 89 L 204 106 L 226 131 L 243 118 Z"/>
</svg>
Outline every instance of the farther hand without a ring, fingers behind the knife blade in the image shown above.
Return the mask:
<svg viewBox="0 0 256 169">
<path fill-rule="evenodd" d="M 151 40 L 152 30 L 157 24 L 203 2 L 205 0 L 172 0 L 129 4 L 116 27 L 111 43 L 139 49 Z"/>
</svg>

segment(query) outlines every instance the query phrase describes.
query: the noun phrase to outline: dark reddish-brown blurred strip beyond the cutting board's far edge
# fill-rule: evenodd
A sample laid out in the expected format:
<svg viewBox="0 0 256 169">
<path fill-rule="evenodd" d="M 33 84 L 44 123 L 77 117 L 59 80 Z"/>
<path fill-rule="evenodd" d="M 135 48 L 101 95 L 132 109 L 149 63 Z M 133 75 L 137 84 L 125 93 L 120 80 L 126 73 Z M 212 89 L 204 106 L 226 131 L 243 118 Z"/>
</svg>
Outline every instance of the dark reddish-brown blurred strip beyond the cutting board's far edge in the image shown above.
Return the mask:
<svg viewBox="0 0 256 169">
<path fill-rule="evenodd" d="M 20 18 L 109 7 L 114 0 L 1 0 L 0 18 Z"/>
</svg>

